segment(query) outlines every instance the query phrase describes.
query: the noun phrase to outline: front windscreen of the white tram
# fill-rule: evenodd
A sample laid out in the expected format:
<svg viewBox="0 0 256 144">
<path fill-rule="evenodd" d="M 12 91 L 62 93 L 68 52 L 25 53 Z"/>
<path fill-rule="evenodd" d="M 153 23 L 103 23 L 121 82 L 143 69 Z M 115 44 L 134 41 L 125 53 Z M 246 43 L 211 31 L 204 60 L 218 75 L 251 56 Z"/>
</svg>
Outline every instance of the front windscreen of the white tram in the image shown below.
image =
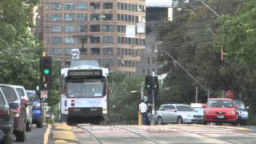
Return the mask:
<svg viewBox="0 0 256 144">
<path fill-rule="evenodd" d="M 69 97 L 102 97 L 104 82 L 97 79 L 85 79 L 83 82 L 67 82 Z"/>
</svg>

